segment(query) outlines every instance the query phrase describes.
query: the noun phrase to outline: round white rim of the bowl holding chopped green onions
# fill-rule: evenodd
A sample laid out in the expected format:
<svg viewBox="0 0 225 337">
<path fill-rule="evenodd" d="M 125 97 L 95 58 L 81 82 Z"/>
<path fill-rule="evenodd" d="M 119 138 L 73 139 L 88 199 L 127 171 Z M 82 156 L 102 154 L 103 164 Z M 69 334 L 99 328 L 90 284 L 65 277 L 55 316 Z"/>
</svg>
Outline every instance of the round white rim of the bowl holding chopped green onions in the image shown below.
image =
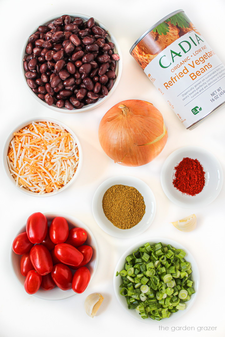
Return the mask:
<svg viewBox="0 0 225 337">
<path fill-rule="evenodd" d="M 152 243 L 158 243 L 158 242 L 161 242 L 162 244 L 170 244 L 170 245 L 173 245 L 174 248 L 176 249 L 182 249 L 186 252 L 186 255 L 188 255 L 188 258 L 186 259 L 186 255 L 185 255 L 185 260 L 190 262 L 190 258 L 192 260 L 191 262 L 191 265 L 192 265 L 192 269 L 193 269 L 193 266 L 194 266 L 194 273 L 197 275 L 196 279 L 194 279 L 194 288 L 195 288 L 195 293 L 192 294 L 192 297 L 191 297 L 191 303 L 187 303 L 187 307 L 185 308 L 185 310 L 179 310 L 178 312 L 176 313 L 179 313 L 179 317 L 183 316 L 193 305 L 195 299 L 196 299 L 196 296 L 198 294 L 198 290 L 199 290 L 199 283 L 200 283 L 200 273 L 199 273 L 199 268 L 198 268 L 198 265 L 197 265 L 197 262 L 194 258 L 194 256 L 192 255 L 192 253 L 189 251 L 189 249 L 187 249 L 185 246 L 183 246 L 182 244 L 180 244 L 179 242 L 173 240 L 173 239 L 168 239 L 168 238 L 164 238 L 164 237 L 152 237 L 150 238 L 149 240 L 144 240 L 142 239 L 141 241 L 139 242 L 136 242 L 134 243 L 132 246 L 130 246 L 129 248 L 127 248 L 124 253 L 120 256 L 117 264 L 116 264 L 116 267 L 115 267 L 115 270 L 114 270 L 114 275 L 113 275 L 113 288 L 114 288 L 114 293 L 115 293 L 115 296 L 116 296 L 116 299 L 117 301 L 119 302 L 119 304 L 123 307 L 123 309 L 133 317 L 132 313 L 129 311 L 128 307 L 125 308 L 125 306 L 122 304 L 122 295 L 119 294 L 118 292 L 118 287 L 116 285 L 116 281 L 117 281 L 117 277 L 116 276 L 116 272 L 118 270 L 118 266 L 121 264 L 122 260 L 124 261 L 124 265 L 125 265 L 125 257 L 128 256 L 130 253 L 132 253 L 134 251 L 134 249 L 138 249 L 139 247 L 143 246 L 145 243 L 149 242 L 150 244 Z M 190 257 L 190 258 L 189 258 Z M 132 310 L 133 311 L 133 310 Z M 176 313 L 173 313 L 173 314 L 176 314 Z M 163 318 L 161 320 L 153 320 L 151 318 L 147 318 L 147 319 L 142 319 L 140 318 L 140 316 L 138 315 L 137 313 L 137 318 L 136 317 L 133 317 L 143 323 L 146 323 L 146 324 L 153 324 L 153 325 L 156 325 L 156 324 L 167 324 L 167 323 L 170 323 L 171 321 L 175 320 L 175 319 L 178 319 L 179 317 L 177 317 L 176 315 L 172 315 L 170 316 L 169 318 Z"/>
</svg>

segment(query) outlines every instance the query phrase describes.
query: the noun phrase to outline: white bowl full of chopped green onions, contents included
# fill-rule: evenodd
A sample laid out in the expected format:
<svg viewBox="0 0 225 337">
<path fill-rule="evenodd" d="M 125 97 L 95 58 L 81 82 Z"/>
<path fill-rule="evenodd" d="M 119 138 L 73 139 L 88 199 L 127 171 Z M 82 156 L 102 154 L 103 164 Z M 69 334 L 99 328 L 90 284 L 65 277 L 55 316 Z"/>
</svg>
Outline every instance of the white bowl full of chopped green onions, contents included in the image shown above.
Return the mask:
<svg viewBox="0 0 225 337">
<path fill-rule="evenodd" d="M 170 323 L 192 306 L 199 288 L 196 261 L 187 248 L 165 238 L 135 243 L 114 272 L 118 302 L 147 324 Z"/>
</svg>

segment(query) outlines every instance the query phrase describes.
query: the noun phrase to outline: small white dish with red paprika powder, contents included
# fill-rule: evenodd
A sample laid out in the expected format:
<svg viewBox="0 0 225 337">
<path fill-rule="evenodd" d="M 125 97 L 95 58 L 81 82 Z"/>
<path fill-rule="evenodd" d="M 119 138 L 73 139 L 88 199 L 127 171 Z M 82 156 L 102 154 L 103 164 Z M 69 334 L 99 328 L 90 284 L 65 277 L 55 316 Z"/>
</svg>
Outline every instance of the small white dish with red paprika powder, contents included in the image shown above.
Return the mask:
<svg viewBox="0 0 225 337">
<path fill-rule="evenodd" d="M 218 159 L 197 146 L 172 152 L 161 170 L 161 185 L 174 204 L 195 209 L 212 203 L 223 185 L 223 170 Z"/>
</svg>

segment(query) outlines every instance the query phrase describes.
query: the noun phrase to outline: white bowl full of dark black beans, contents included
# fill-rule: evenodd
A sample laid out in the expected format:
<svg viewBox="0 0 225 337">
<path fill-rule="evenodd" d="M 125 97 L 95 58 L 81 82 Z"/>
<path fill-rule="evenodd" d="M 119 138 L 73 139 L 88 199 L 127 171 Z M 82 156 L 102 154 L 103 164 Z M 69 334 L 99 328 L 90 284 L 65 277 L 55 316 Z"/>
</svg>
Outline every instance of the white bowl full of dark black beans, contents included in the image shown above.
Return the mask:
<svg viewBox="0 0 225 337">
<path fill-rule="evenodd" d="M 83 14 L 46 20 L 29 36 L 22 72 L 31 94 L 54 111 L 89 111 L 112 95 L 122 71 L 121 52 L 108 29 Z"/>
</svg>

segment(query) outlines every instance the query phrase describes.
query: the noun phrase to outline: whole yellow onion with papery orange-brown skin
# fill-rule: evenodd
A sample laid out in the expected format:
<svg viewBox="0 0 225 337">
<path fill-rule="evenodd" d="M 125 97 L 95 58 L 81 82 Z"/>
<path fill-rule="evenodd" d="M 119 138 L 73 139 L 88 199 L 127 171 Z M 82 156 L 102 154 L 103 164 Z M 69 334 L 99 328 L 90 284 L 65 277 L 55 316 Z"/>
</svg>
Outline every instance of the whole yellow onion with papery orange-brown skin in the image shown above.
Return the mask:
<svg viewBox="0 0 225 337">
<path fill-rule="evenodd" d="M 160 154 L 167 138 L 160 111 L 151 103 L 137 99 L 115 104 L 99 126 L 103 150 L 120 165 L 149 163 Z"/>
</svg>

